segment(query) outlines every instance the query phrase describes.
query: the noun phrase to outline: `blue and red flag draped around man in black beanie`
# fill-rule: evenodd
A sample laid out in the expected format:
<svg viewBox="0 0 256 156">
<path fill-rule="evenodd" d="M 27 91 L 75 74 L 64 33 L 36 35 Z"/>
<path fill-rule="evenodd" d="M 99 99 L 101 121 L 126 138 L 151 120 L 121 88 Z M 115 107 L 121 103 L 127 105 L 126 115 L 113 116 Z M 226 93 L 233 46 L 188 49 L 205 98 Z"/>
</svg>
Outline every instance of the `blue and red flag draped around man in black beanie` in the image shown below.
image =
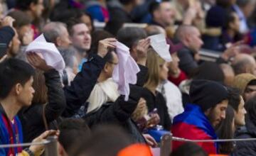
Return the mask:
<svg viewBox="0 0 256 156">
<path fill-rule="evenodd" d="M 207 116 L 200 106 L 196 104 L 186 104 L 185 111 L 174 117 L 171 132 L 175 137 L 192 140 L 215 140 L 217 135 Z M 182 145 L 181 142 L 174 141 L 174 150 Z M 208 154 L 218 153 L 217 143 L 198 143 Z"/>
</svg>

